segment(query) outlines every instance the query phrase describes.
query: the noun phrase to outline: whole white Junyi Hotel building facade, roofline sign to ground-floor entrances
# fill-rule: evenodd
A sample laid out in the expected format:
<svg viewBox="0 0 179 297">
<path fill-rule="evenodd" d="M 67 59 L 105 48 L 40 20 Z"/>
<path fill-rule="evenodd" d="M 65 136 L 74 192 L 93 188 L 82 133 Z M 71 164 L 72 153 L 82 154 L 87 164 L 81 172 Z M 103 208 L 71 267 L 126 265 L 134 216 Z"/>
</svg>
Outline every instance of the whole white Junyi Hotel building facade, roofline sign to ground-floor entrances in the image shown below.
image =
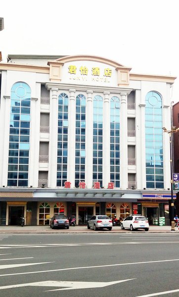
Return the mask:
<svg viewBox="0 0 179 297">
<path fill-rule="evenodd" d="M 0 79 L 0 224 L 22 214 L 48 225 L 54 213 L 77 224 L 132 213 L 169 224 L 162 127 L 171 127 L 175 77 L 96 56 L 9 55 Z"/>
</svg>

